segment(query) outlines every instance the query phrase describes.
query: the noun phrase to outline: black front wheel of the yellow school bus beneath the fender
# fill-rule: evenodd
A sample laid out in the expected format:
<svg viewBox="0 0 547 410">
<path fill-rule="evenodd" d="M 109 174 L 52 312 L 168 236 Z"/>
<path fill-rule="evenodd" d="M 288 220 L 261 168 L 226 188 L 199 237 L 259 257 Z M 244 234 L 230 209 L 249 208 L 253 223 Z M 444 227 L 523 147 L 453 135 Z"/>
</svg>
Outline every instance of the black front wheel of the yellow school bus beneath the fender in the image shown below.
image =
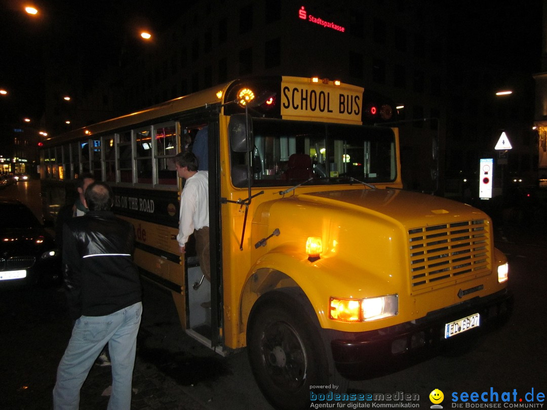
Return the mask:
<svg viewBox="0 0 547 410">
<path fill-rule="evenodd" d="M 330 352 L 308 309 L 297 301 L 294 292 L 267 292 L 255 303 L 247 327 L 247 353 L 253 375 L 263 395 L 279 409 L 310 407 L 312 394 L 327 394 L 336 389 L 319 390 L 339 380 Z M 334 373 L 334 374 L 333 374 Z M 329 376 L 329 374 L 331 376 Z"/>
</svg>

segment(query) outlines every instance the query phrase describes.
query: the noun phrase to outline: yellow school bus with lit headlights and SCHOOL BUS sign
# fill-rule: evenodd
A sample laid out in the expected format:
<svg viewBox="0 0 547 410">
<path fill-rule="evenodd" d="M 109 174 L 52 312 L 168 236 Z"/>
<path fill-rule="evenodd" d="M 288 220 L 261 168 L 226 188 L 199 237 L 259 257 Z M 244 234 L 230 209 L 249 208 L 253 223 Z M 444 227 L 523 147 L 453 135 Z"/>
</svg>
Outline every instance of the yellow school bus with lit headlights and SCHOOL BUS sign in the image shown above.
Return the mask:
<svg viewBox="0 0 547 410">
<path fill-rule="evenodd" d="M 305 407 L 317 386 L 460 344 L 510 307 L 491 219 L 402 189 L 398 130 L 381 125 L 394 113 L 339 81 L 231 81 L 50 138 L 45 214 L 79 174 L 107 181 L 143 278 L 171 291 L 188 335 L 223 355 L 247 347 L 267 400 Z M 198 145 L 211 283 L 174 240 L 173 156 Z"/>
</svg>

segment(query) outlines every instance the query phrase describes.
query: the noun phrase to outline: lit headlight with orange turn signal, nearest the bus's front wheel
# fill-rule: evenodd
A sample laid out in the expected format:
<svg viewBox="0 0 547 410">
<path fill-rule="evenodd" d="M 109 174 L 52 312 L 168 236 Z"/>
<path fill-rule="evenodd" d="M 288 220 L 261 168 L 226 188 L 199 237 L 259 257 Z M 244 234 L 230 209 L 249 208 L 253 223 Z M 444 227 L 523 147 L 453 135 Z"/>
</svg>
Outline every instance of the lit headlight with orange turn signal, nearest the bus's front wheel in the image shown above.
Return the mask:
<svg viewBox="0 0 547 410">
<path fill-rule="evenodd" d="M 344 322 L 361 322 L 385 319 L 399 311 L 399 295 L 346 299 L 331 297 L 329 318 Z"/>
</svg>

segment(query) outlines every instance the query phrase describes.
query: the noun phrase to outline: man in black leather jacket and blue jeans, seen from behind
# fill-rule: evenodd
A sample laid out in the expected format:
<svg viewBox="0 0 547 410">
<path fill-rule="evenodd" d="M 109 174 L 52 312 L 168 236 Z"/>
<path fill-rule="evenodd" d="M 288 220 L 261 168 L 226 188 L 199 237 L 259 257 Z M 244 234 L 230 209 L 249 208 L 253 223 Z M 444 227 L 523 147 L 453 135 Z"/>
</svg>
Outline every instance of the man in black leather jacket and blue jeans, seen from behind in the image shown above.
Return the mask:
<svg viewBox="0 0 547 410">
<path fill-rule="evenodd" d="M 85 191 L 89 212 L 63 227 L 63 274 L 76 321 L 57 369 L 55 409 L 78 408 L 80 388 L 107 342 L 113 379 L 108 408 L 131 407 L 142 290 L 132 260 L 135 230 L 114 216 L 112 200 L 107 184 L 91 184 Z"/>
</svg>

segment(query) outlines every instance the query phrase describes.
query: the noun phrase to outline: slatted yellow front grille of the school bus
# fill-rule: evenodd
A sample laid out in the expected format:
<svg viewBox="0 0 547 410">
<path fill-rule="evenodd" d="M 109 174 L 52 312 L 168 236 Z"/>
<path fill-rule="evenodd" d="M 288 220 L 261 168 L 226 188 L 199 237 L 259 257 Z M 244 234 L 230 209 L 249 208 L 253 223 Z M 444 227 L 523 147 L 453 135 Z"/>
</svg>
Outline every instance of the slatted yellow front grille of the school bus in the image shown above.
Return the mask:
<svg viewBox="0 0 547 410">
<path fill-rule="evenodd" d="M 411 289 L 418 290 L 490 268 L 485 220 L 409 230 Z"/>
</svg>

